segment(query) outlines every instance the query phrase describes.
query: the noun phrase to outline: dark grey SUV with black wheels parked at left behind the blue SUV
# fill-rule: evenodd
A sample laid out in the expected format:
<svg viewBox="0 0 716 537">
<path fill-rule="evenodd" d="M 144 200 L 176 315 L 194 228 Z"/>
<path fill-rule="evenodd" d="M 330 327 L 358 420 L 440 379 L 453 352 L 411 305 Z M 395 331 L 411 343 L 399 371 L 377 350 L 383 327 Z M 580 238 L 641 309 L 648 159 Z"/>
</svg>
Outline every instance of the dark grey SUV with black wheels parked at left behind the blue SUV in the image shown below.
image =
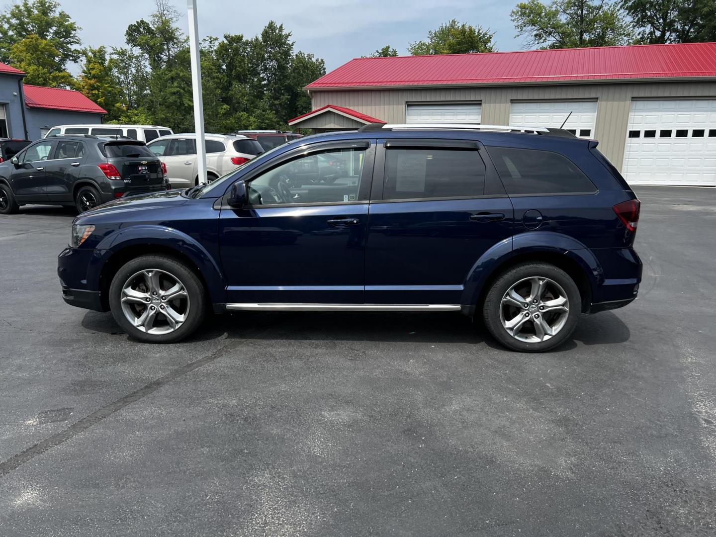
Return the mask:
<svg viewBox="0 0 716 537">
<path fill-rule="evenodd" d="M 166 168 L 145 142 L 120 137 L 43 138 L 0 164 L 0 213 L 19 205 L 87 211 L 125 195 L 168 190 Z"/>
</svg>

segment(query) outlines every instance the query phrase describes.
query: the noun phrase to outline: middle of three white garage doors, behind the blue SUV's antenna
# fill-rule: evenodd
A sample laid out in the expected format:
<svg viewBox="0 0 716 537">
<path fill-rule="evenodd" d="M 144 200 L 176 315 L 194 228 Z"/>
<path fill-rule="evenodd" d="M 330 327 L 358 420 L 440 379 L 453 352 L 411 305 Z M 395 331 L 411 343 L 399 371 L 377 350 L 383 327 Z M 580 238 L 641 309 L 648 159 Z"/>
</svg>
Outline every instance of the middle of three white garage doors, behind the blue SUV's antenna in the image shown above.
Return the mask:
<svg viewBox="0 0 716 537">
<path fill-rule="evenodd" d="M 564 123 L 563 128 L 572 134 L 592 138 L 595 120 L 596 101 L 533 101 L 510 105 L 510 125 L 516 127 L 559 128 Z"/>
</svg>

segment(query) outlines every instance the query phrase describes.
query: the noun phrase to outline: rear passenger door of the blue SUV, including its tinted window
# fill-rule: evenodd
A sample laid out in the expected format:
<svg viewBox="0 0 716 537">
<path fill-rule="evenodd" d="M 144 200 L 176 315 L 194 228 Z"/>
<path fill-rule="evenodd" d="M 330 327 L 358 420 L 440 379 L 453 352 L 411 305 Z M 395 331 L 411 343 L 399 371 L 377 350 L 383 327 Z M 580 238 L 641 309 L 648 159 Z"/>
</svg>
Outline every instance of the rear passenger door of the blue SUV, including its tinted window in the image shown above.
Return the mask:
<svg viewBox="0 0 716 537">
<path fill-rule="evenodd" d="M 378 147 L 366 302 L 462 304 L 476 261 L 513 234 L 513 207 L 495 170 L 471 140 L 391 139 Z"/>
</svg>

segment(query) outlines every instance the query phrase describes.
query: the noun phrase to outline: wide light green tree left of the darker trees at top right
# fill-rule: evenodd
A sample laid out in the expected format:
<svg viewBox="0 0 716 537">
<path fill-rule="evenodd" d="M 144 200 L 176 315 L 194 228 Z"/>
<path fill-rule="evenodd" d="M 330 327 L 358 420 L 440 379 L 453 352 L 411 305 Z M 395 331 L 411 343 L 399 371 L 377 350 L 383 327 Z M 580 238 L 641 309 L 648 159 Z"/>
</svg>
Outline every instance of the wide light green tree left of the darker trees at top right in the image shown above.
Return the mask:
<svg viewBox="0 0 716 537">
<path fill-rule="evenodd" d="M 608 47 L 633 40 L 619 4 L 603 0 L 528 0 L 511 12 L 518 36 L 546 49 Z"/>
</svg>

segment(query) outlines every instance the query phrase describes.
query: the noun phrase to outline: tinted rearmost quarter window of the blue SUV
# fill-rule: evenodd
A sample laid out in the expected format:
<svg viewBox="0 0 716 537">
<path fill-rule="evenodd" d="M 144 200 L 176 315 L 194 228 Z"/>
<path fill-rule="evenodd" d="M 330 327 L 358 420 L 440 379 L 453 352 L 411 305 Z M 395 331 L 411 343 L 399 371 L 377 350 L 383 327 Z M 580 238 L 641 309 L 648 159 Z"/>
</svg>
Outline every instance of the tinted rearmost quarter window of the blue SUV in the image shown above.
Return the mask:
<svg viewBox="0 0 716 537">
<path fill-rule="evenodd" d="M 516 147 L 487 149 L 510 195 L 596 192 L 594 183 L 559 153 Z"/>
</svg>

